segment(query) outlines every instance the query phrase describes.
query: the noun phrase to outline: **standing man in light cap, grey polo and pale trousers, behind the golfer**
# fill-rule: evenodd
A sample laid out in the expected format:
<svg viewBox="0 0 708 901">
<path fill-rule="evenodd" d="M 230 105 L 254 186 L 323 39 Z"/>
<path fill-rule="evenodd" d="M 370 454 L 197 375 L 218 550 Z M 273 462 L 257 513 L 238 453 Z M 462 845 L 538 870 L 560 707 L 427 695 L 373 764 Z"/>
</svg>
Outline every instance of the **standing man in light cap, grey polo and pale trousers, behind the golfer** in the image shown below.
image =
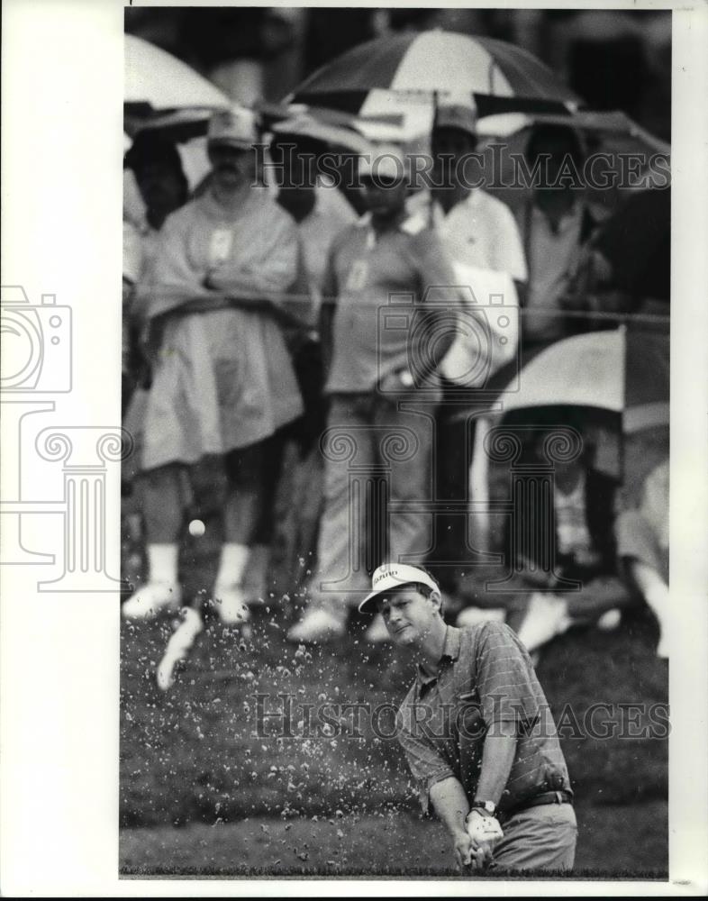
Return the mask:
<svg viewBox="0 0 708 901">
<path fill-rule="evenodd" d="M 369 213 L 333 242 L 323 294 L 334 302 L 322 306 L 328 422 L 349 432 L 357 471 L 366 478 L 377 467 L 387 440 L 400 441 L 403 434 L 404 442 L 412 446 L 413 453 L 390 461 L 392 502 L 422 501 L 431 494 L 429 415 L 410 412 L 400 402 L 413 400 L 417 387 L 426 389 L 431 407 L 440 398 L 435 364 L 425 353 L 425 341 L 440 317 L 431 314 L 422 320 L 424 328 L 411 327 L 413 316 L 426 303 L 427 288 L 454 284 L 437 234 L 406 215 L 404 168 L 393 148 L 382 149 L 374 160 L 362 160 L 359 175 Z M 415 306 L 403 311 L 407 328 L 379 330 L 379 308 L 394 293 L 414 300 Z M 448 314 L 445 307 L 440 306 L 440 314 Z M 440 356 L 451 338 L 451 333 L 438 337 Z M 414 367 L 419 361 L 421 365 Z M 318 562 L 323 578 L 337 580 L 341 588 L 336 595 L 322 589 L 314 592 L 304 619 L 288 633 L 291 641 L 323 642 L 343 634 L 349 606 L 367 588 L 368 572 L 356 559 L 366 543 L 359 532 L 363 517 L 356 514 L 351 490 L 349 463 L 325 460 Z M 358 520 L 356 532 L 350 533 L 350 523 Z M 420 514 L 404 510 L 391 515 L 389 533 L 382 536 L 388 539 L 392 560 L 422 556 L 425 537 Z"/>
</svg>

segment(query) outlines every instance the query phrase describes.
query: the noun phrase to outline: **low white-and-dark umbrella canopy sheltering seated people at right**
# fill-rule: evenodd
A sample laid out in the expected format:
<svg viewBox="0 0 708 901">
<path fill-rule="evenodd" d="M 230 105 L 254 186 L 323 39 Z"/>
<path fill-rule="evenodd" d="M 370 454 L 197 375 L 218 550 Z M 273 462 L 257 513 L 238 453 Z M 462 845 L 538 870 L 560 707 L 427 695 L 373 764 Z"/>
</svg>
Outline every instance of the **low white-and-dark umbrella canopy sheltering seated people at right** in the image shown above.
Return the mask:
<svg viewBox="0 0 708 901">
<path fill-rule="evenodd" d="M 668 335 L 622 327 L 558 341 L 531 359 L 502 398 L 504 413 L 549 405 L 611 410 L 622 414 L 627 433 L 668 423 Z"/>
</svg>

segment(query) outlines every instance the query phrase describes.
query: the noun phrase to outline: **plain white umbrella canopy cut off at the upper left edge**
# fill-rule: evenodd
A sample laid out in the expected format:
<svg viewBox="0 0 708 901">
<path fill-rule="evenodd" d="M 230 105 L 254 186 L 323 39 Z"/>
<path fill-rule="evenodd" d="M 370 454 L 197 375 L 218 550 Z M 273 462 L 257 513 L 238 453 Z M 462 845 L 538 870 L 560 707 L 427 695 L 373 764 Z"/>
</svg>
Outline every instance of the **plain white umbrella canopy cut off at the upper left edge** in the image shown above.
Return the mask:
<svg viewBox="0 0 708 901">
<path fill-rule="evenodd" d="M 124 51 L 125 104 L 143 105 L 148 111 L 185 107 L 213 110 L 231 104 L 218 87 L 150 41 L 126 34 Z"/>
</svg>

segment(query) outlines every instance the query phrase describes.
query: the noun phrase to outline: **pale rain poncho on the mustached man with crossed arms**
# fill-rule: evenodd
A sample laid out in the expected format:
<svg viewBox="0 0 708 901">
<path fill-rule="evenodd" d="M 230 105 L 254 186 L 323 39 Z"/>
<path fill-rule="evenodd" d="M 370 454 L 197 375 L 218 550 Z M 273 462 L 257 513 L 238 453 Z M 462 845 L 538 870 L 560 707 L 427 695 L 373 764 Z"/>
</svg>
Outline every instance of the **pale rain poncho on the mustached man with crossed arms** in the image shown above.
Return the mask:
<svg viewBox="0 0 708 901">
<path fill-rule="evenodd" d="M 263 188 L 235 209 L 206 194 L 168 218 L 141 291 L 147 318 L 164 322 L 142 469 L 246 447 L 302 413 L 277 319 L 297 261 L 295 222 Z"/>
</svg>

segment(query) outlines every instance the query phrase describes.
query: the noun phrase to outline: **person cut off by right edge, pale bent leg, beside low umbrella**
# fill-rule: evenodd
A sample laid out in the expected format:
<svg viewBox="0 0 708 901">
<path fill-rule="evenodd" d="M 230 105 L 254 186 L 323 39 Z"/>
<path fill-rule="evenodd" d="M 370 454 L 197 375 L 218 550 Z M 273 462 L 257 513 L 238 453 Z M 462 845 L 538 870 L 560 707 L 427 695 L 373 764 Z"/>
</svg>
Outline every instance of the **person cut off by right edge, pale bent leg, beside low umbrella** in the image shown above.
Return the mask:
<svg viewBox="0 0 708 901">
<path fill-rule="evenodd" d="M 664 460 L 644 483 L 639 509 L 617 519 L 617 552 L 630 587 L 640 593 L 657 617 L 657 654 L 668 657 L 668 478 Z"/>
</svg>

